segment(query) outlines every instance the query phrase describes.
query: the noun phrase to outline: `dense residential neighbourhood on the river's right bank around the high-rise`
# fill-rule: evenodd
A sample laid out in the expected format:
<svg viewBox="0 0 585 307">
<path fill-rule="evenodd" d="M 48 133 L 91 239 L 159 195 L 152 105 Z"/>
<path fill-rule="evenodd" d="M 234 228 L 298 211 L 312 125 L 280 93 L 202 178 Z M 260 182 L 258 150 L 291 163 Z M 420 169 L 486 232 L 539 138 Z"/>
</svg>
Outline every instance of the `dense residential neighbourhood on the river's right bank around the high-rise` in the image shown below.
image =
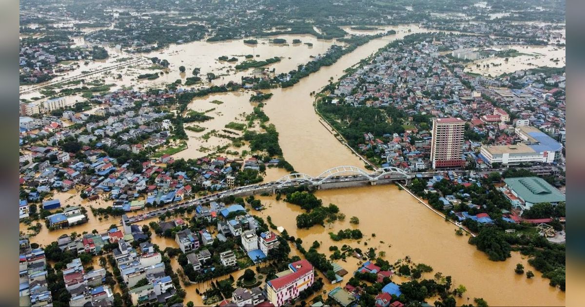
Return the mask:
<svg viewBox="0 0 585 307">
<path fill-rule="evenodd" d="M 505 42 L 441 35 L 420 40 L 425 41 L 378 53 L 369 64 L 342 78 L 322 100 L 319 109 L 342 135 L 346 132 L 351 146 L 383 167 L 426 170 L 432 168 L 431 118 L 454 117 L 466 123 L 463 160 L 467 169 L 562 163 L 565 95 L 559 84 L 565 80 L 563 70 L 481 77 L 466 73 L 441 50 Z M 382 134 L 384 123 L 364 123 L 369 130 L 358 137 L 356 123 L 344 125 L 357 112 L 352 108 L 371 108 L 371 116 L 381 110 L 392 120 L 390 129 Z M 335 122 L 339 119 L 341 123 Z"/>
</svg>

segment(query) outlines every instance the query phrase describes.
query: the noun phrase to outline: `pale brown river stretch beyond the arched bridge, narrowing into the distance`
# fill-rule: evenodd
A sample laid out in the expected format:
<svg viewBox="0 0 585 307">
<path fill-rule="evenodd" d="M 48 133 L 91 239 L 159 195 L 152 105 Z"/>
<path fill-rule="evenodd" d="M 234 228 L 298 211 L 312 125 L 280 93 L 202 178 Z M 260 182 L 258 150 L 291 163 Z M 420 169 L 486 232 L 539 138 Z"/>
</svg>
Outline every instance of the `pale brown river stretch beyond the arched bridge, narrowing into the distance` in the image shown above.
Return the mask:
<svg viewBox="0 0 585 307">
<path fill-rule="evenodd" d="M 331 77 L 336 81 L 348 67 L 358 63 L 362 58 L 370 56 L 381 47 L 395 39 L 400 39 L 410 33 L 425 32 L 415 25 L 402 27 L 386 27 L 386 30 L 397 30 L 396 35 L 382 37 L 358 47 L 350 54 L 340 58 L 337 63 L 322 67 L 318 72 L 301 79 L 300 82 L 289 88 L 277 88 L 264 111 L 270 117 L 278 131 L 280 146 L 284 158 L 291 163 L 295 170 L 316 176 L 328 168 L 340 165 L 364 167 L 347 147 L 339 143 L 314 111 L 314 98 L 311 92 L 319 92 L 328 84 Z M 408 32 L 408 29 L 411 32 Z"/>
</svg>

